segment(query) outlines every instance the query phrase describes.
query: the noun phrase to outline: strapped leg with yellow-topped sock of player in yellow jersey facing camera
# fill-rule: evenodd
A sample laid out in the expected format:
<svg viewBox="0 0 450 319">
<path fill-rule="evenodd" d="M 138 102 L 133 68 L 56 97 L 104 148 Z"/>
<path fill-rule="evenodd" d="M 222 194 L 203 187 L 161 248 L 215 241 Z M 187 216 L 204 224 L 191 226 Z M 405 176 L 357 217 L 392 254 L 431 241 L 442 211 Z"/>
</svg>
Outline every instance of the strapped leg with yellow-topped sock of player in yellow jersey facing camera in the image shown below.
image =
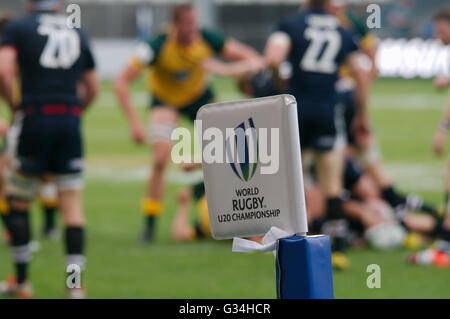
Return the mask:
<svg viewBox="0 0 450 319">
<path fill-rule="evenodd" d="M 178 113 L 169 107 L 153 107 L 150 111 L 150 139 L 153 152 L 147 198 L 142 203 L 145 215 L 143 242 L 154 238 L 155 221 L 163 210 L 164 172 L 172 150 L 171 134 L 178 125 Z"/>
</svg>

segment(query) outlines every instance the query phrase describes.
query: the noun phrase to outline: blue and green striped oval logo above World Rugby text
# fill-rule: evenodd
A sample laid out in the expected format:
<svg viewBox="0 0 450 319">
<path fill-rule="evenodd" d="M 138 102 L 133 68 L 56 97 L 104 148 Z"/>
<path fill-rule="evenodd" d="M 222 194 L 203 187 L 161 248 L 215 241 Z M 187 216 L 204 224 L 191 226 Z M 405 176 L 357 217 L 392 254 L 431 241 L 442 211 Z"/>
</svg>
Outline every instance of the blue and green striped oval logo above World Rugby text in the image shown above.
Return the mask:
<svg viewBox="0 0 450 319">
<path fill-rule="evenodd" d="M 227 162 L 242 181 L 249 181 L 258 167 L 258 137 L 253 118 L 242 122 L 226 139 Z"/>
</svg>

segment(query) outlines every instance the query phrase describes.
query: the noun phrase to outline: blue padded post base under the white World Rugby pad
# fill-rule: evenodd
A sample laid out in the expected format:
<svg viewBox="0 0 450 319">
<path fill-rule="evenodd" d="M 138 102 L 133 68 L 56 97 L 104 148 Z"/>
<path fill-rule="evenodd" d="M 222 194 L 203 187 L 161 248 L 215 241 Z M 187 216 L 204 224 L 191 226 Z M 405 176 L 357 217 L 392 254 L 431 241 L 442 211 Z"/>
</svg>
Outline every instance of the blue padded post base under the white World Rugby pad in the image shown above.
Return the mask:
<svg viewBox="0 0 450 319">
<path fill-rule="evenodd" d="M 330 238 L 291 236 L 278 240 L 279 299 L 333 299 Z"/>
</svg>

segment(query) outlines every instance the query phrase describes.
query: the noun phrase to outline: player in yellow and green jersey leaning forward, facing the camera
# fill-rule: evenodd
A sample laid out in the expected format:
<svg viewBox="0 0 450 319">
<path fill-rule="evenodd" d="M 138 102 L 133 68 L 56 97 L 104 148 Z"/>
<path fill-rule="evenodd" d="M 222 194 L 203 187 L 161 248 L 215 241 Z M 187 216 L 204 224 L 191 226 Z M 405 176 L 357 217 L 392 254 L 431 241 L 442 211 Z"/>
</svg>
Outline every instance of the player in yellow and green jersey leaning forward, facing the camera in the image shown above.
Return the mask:
<svg viewBox="0 0 450 319">
<path fill-rule="evenodd" d="M 146 220 L 143 242 L 154 238 L 155 220 L 163 211 L 164 171 L 172 148 L 172 130 L 178 126 L 180 116 L 193 121 L 198 109 L 214 99 L 206 69 L 207 61 L 214 55 L 235 61 L 260 59 L 248 46 L 200 28 L 193 5 L 176 5 L 171 28 L 149 43 L 142 43 L 115 80 L 115 92 L 132 137 L 135 142 L 144 143 L 146 130 L 133 109 L 129 86 L 150 67 L 149 139 L 154 158 L 147 198 L 142 202 Z"/>
</svg>

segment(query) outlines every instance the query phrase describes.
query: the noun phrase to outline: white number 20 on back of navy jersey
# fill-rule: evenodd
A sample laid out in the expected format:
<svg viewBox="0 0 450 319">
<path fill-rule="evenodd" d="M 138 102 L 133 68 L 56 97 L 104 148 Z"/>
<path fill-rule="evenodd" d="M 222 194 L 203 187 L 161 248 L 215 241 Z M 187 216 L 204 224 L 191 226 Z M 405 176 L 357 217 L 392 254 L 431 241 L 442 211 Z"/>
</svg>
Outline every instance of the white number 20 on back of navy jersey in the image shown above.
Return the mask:
<svg viewBox="0 0 450 319">
<path fill-rule="evenodd" d="M 48 36 L 39 62 L 49 69 L 70 69 L 80 56 L 80 37 L 73 29 L 41 24 L 40 35 Z"/>
</svg>

